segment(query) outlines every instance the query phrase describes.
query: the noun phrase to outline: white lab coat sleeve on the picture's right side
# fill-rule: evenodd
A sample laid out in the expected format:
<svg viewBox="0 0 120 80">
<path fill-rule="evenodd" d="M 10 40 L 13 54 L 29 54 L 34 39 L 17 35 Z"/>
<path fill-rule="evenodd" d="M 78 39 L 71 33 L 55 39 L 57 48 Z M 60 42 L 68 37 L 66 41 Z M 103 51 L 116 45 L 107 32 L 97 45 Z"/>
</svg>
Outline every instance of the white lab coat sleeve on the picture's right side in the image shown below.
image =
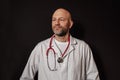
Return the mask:
<svg viewBox="0 0 120 80">
<path fill-rule="evenodd" d="M 90 47 L 86 46 L 86 80 L 100 80 Z"/>
</svg>

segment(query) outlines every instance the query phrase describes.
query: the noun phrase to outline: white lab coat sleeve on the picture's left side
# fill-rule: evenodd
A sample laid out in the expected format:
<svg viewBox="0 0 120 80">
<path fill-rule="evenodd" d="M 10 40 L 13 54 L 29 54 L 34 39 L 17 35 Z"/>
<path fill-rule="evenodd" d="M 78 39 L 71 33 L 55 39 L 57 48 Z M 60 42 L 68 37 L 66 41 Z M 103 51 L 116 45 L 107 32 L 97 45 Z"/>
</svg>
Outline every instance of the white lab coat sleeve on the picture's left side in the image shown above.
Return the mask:
<svg viewBox="0 0 120 80">
<path fill-rule="evenodd" d="M 20 77 L 20 80 L 34 80 L 34 76 L 38 71 L 38 57 L 38 49 L 37 47 L 35 47 L 28 59 L 28 62 L 25 66 L 22 76 Z"/>
</svg>

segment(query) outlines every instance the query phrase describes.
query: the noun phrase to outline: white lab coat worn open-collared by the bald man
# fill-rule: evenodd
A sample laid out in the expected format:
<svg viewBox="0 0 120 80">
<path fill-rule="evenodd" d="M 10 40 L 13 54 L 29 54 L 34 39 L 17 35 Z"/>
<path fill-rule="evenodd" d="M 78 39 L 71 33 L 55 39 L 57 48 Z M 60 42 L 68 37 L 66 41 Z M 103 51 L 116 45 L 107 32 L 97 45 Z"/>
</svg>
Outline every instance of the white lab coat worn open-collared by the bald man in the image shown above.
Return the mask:
<svg viewBox="0 0 120 80">
<path fill-rule="evenodd" d="M 56 61 L 57 71 L 50 71 L 47 65 L 46 51 L 49 44 L 50 38 L 38 43 L 30 55 L 20 80 L 34 80 L 36 72 L 38 72 L 38 80 L 100 80 L 91 49 L 84 41 L 70 36 L 70 45 L 64 62 Z M 51 46 L 56 52 L 57 60 L 60 51 L 54 41 Z M 51 54 L 49 64 L 54 67 L 54 63 Z"/>
</svg>

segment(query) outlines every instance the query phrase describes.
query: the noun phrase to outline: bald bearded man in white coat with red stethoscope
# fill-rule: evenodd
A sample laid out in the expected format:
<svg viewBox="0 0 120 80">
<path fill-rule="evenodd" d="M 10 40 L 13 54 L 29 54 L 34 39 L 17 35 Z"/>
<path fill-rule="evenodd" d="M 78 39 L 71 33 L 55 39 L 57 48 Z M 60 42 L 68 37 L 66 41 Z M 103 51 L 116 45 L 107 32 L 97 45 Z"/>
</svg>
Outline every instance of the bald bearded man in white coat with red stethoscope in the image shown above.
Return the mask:
<svg viewBox="0 0 120 80">
<path fill-rule="evenodd" d="M 63 8 L 52 16 L 54 35 L 34 48 L 20 80 L 100 80 L 89 46 L 69 33 L 71 14 Z"/>
</svg>

